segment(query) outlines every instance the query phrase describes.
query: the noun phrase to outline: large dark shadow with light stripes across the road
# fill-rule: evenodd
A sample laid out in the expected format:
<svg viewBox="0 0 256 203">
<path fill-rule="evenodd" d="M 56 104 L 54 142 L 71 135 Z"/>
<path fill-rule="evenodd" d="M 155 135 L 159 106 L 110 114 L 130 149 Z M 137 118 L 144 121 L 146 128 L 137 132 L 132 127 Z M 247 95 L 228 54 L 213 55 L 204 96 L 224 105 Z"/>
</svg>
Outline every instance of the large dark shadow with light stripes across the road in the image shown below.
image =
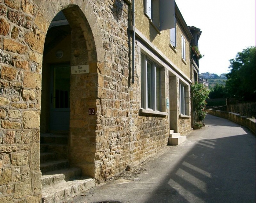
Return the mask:
<svg viewBox="0 0 256 203">
<path fill-rule="evenodd" d="M 251 134 L 197 141 L 145 203 L 255 202 L 255 159 Z"/>
</svg>

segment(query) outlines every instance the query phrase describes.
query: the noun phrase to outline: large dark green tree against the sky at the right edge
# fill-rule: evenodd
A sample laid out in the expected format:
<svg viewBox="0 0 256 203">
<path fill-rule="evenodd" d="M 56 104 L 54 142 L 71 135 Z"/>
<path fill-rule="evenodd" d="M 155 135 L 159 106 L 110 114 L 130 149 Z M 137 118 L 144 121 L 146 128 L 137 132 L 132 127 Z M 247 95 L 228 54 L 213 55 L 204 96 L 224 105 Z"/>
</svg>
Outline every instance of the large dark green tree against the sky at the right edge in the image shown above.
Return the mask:
<svg viewBox="0 0 256 203">
<path fill-rule="evenodd" d="M 243 101 L 255 101 L 256 96 L 256 60 L 255 46 L 243 49 L 230 59 L 231 69 L 227 73 L 226 87 L 229 97 Z"/>
</svg>

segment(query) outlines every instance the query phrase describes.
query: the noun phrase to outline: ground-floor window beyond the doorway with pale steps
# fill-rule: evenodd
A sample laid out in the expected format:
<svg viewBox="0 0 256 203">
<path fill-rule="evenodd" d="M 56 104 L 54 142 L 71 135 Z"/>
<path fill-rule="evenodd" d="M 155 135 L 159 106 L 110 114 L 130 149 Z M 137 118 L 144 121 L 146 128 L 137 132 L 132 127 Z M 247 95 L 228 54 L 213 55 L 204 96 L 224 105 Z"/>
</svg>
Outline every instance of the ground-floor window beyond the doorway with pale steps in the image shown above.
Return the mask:
<svg viewBox="0 0 256 203">
<path fill-rule="evenodd" d="M 180 115 L 189 116 L 188 86 L 180 83 Z"/>
</svg>

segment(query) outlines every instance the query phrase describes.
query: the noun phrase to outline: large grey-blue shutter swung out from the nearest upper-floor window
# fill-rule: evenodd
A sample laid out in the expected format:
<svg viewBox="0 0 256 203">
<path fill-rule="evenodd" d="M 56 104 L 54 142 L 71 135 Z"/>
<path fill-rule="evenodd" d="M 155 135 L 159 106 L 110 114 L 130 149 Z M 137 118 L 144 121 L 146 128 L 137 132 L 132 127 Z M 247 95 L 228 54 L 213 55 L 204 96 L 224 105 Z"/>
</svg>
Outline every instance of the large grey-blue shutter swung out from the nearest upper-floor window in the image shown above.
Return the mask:
<svg viewBox="0 0 256 203">
<path fill-rule="evenodd" d="M 168 30 L 175 27 L 174 0 L 159 1 L 160 30 Z"/>
</svg>

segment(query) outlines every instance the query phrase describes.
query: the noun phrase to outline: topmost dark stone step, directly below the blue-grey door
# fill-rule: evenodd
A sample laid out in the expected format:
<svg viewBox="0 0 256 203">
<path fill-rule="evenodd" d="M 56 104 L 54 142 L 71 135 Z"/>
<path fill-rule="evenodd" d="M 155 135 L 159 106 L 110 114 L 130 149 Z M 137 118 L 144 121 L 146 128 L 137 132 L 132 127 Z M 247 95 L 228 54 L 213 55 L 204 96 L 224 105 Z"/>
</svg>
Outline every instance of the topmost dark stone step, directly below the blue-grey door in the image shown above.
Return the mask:
<svg viewBox="0 0 256 203">
<path fill-rule="evenodd" d="M 49 144 L 68 144 L 68 135 L 66 134 L 40 134 L 40 143 L 49 143 Z"/>
</svg>

